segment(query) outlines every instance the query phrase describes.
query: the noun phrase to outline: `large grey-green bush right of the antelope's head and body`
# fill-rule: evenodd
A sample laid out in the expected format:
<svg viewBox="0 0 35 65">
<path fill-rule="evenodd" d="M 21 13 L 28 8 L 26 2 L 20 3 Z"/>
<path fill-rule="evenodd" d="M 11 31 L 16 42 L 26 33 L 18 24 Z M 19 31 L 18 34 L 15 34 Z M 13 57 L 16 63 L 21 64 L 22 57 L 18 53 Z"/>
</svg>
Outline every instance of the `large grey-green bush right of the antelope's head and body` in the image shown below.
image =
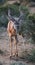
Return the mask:
<svg viewBox="0 0 35 65">
<path fill-rule="evenodd" d="M 23 21 L 21 23 L 21 29 L 19 33 L 26 37 L 26 39 L 32 38 L 32 43 L 35 43 L 35 14 L 30 15 L 26 6 L 21 6 L 23 12 Z"/>
</svg>

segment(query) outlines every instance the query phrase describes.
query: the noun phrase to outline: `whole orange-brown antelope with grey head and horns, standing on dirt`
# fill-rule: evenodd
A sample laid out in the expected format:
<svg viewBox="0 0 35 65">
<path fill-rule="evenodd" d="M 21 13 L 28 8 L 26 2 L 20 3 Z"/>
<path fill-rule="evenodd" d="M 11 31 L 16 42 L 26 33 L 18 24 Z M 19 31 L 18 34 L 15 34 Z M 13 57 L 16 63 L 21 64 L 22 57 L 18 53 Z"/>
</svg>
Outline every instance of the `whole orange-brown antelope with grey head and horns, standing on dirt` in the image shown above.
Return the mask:
<svg viewBox="0 0 35 65">
<path fill-rule="evenodd" d="M 10 51 L 11 51 L 11 52 L 10 52 L 10 56 L 12 56 L 12 37 L 13 37 L 13 36 L 15 37 L 15 46 L 16 46 L 16 50 L 15 50 L 15 52 L 13 53 L 13 55 L 18 56 L 18 50 L 17 50 L 17 41 L 18 41 L 18 39 L 17 39 L 17 33 L 16 33 L 16 31 L 17 31 L 17 30 L 19 31 L 19 21 L 22 20 L 22 16 L 23 16 L 23 13 L 20 12 L 20 16 L 19 16 L 18 21 L 15 20 L 15 19 L 14 19 L 13 17 L 11 17 L 11 16 L 10 16 L 10 18 L 12 18 L 12 20 L 10 20 L 10 18 L 9 18 L 8 16 L 6 16 L 7 19 L 10 20 L 10 21 L 8 22 L 8 26 L 7 26 L 8 35 L 9 35 L 9 37 L 10 37 Z M 15 23 L 18 24 L 17 30 L 16 30 L 16 27 L 15 27 L 14 21 L 15 21 Z"/>
</svg>

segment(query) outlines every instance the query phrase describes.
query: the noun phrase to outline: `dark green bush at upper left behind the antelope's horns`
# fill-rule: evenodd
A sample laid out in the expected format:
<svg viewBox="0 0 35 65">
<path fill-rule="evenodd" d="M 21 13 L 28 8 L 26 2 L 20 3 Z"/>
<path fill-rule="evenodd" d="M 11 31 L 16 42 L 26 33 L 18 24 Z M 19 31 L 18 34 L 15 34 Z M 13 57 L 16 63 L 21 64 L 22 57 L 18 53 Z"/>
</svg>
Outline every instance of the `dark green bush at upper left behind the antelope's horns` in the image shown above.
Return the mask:
<svg viewBox="0 0 35 65">
<path fill-rule="evenodd" d="M 17 4 L 13 4 L 13 5 L 7 5 L 5 7 L 1 7 L 0 6 L 0 12 L 4 12 L 8 15 L 8 9 L 10 9 L 10 14 L 12 16 L 19 16 L 20 15 L 20 12 L 19 12 L 19 6 Z"/>
</svg>

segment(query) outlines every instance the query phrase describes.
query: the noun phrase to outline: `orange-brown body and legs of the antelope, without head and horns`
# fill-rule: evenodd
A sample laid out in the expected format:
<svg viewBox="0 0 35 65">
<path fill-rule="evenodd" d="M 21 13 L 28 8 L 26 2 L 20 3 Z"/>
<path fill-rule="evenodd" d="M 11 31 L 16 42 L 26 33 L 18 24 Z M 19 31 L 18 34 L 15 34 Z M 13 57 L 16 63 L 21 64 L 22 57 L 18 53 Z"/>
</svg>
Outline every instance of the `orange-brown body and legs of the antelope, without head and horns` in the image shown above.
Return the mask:
<svg viewBox="0 0 35 65">
<path fill-rule="evenodd" d="M 8 35 L 10 37 L 10 57 L 12 55 L 18 56 L 18 50 L 17 50 L 17 33 L 16 33 L 15 24 L 14 24 L 14 22 L 12 20 L 10 20 L 8 22 L 7 31 L 8 31 Z M 12 37 L 13 36 L 15 37 L 15 43 L 13 43 L 13 44 L 15 44 L 15 47 L 16 47 L 16 49 L 14 50 L 14 52 L 12 52 L 13 51 L 12 50 Z"/>
</svg>

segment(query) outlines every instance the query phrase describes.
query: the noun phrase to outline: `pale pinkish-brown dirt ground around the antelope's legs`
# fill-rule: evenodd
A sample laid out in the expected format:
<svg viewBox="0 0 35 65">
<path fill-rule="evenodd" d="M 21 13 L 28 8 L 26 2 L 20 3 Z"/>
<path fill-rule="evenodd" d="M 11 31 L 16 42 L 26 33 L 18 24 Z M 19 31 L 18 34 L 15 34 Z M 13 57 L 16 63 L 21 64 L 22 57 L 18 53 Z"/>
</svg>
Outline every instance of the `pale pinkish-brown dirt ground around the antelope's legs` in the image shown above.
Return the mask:
<svg viewBox="0 0 35 65">
<path fill-rule="evenodd" d="M 18 35 L 18 54 L 22 53 L 23 49 L 28 49 L 28 51 L 35 47 L 33 44 L 24 44 L 25 39 Z M 16 61 L 10 60 L 10 47 L 9 47 L 9 37 L 5 28 L 0 28 L 0 65 L 35 65 L 35 63 L 27 63 L 27 61 Z"/>
</svg>

